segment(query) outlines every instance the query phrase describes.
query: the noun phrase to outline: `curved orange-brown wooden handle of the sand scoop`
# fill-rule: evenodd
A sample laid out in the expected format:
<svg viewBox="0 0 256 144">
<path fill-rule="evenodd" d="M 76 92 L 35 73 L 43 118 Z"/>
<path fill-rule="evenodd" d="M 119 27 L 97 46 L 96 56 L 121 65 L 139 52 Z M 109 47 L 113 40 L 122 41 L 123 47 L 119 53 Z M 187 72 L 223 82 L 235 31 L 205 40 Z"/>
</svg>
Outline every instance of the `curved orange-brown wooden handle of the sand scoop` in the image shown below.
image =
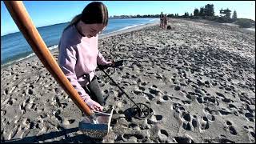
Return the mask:
<svg viewBox="0 0 256 144">
<path fill-rule="evenodd" d="M 52 74 L 58 84 L 62 86 L 66 93 L 69 94 L 70 98 L 78 108 L 91 116 L 93 114 L 92 111 L 86 103 L 83 102 L 77 90 L 70 84 L 69 80 L 58 66 L 58 63 L 55 61 L 52 54 L 50 54 L 50 50 L 48 50 L 46 43 L 42 40 L 22 1 L 4 1 L 4 3 L 11 17 L 14 19 L 14 22 L 18 26 L 18 29 L 22 32 L 26 41 L 30 44 L 32 50 L 34 50 L 34 53 L 38 56 L 42 64 L 50 74 Z"/>
</svg>

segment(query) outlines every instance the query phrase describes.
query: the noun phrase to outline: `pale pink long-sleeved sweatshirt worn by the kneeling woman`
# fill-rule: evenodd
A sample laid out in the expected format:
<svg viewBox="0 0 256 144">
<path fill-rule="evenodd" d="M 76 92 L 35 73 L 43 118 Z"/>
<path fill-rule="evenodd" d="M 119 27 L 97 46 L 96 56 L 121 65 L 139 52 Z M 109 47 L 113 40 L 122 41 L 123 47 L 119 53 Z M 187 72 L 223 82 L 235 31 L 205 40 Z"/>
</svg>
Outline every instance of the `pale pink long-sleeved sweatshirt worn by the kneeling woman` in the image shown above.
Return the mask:
<svg viewBox="0 0 256 144">
<path fill-rule="evenodd" d="M 84 74 L 90 74 L 91 81 L 94 78 L 97 63 L 100 65 L 111 63 L 106 62 L 98 50 L 98 34 L 91 38 L 82 37 L 75 26 L 70 26 L 62 34 L 58 52 L 58 65 L 74 89 L 87 102 L 90 96 L 82 86 L 86 86 L 89 82 Z"/>
</svg>

